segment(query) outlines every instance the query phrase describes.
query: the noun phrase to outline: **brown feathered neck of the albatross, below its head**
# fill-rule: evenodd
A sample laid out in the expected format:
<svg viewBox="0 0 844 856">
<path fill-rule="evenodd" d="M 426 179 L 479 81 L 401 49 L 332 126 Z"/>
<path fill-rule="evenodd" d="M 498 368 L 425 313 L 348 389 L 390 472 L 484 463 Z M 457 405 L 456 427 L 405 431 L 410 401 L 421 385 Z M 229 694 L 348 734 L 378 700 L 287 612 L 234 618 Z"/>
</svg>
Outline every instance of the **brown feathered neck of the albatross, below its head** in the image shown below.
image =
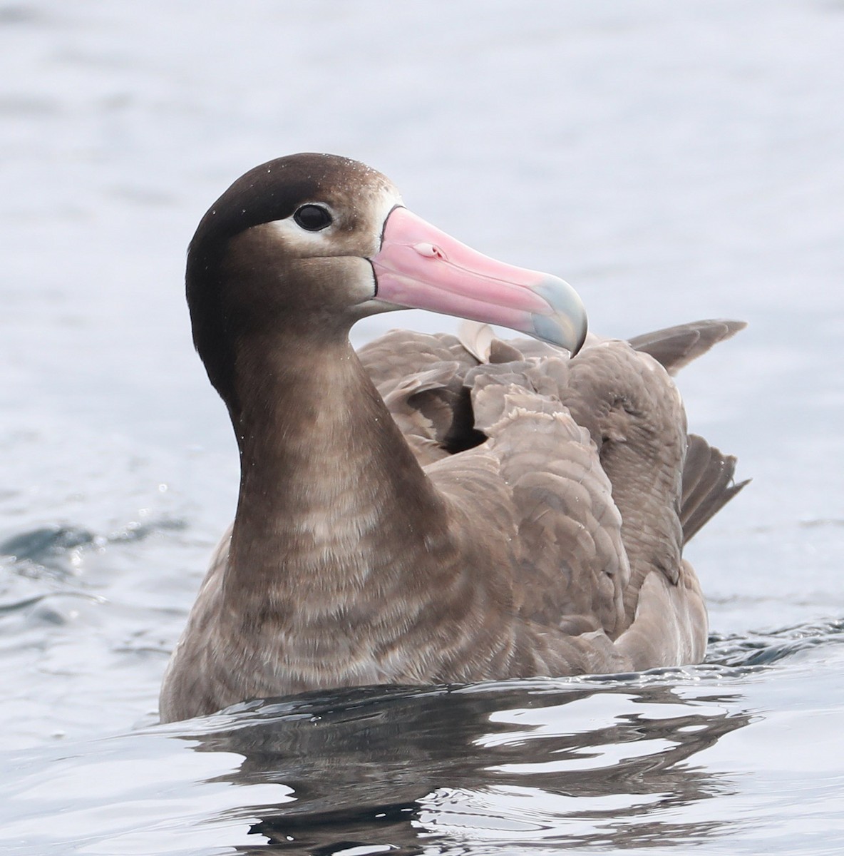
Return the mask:
<svg viewBox="0 0 844 856">
<path fill-rule="evenodd" d="M 224 585 L 241 603 L 316 620 L 411 585 L 413 556 L 448 550 L 440 496 L 345 336 L 265 342 L 237 372 L 248 383 L 233 413 L 241 479 Z"/>
</svg>

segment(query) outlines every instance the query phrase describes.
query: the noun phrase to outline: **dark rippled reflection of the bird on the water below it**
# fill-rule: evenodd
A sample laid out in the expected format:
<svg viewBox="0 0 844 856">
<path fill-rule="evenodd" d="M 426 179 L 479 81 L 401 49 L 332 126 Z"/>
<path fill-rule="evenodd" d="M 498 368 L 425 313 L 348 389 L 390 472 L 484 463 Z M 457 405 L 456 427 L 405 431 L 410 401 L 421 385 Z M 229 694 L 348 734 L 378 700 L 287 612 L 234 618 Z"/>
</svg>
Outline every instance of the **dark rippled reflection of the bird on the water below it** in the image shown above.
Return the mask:
<svg viewBox="0 0 844 856">
<path fill-rule="evenodd" d="M 646 676 L 370 687 L 240 704 L 177 736 L 244 756 L 215 781 L 292 788 L 237 811 L 256 835 L 239 853 L 646 847 L 717 834 L 682 810 L 734 793 L 693 757 L 751 717 L 706 693 Z"/>
</svg>

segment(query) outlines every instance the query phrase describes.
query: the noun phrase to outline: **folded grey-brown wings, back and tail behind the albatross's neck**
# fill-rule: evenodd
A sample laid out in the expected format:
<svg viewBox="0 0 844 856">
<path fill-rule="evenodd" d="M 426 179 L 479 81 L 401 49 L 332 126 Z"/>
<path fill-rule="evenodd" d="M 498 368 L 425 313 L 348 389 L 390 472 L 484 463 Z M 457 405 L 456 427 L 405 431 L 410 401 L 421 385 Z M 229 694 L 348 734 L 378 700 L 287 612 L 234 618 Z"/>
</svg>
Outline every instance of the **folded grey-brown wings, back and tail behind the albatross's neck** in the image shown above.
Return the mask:
<svg viewBox="0 0 844 856">
<path fill-rule="evenodd" d="M 574 359 L 470 323 L 459 339 L 403 331 L 363 348 L 466 537 L 501 536 L 499 561 L 519 568 L 502 586 L 525 627 L 574 638 L 558 647 L 571 671 L 594 657 L 644 668 L 702 656 L 705 606 L 682 547 L 747 482 L 735 483 L 735 457 L 687 434 L 670 375 L 744 326 L 590 336 Z M 531 644 L 512 656 L 556 662 L 551 642 Z"/>
</svg>

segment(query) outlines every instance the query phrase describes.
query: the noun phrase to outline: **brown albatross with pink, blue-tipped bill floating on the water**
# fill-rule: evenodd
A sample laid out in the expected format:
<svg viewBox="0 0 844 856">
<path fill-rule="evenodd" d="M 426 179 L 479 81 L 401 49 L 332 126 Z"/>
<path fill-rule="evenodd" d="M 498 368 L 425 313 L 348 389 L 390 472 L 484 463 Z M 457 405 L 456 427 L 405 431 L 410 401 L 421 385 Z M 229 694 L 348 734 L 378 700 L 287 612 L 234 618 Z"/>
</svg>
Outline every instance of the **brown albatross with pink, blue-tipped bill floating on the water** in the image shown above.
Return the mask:
<svg viewBox="0 0 844 856">
<path fill-rule="evenodd" d="M 587 336 L 568 283 L 476 253 L 323 154 L 235 181 L 199 223 L 186 291 L 241 475 L 162 721 L 704 657 L 682 550 L 745 483 L 688 433 L 672 376 L 744 324 Z M 351 347 L 358 319 L 408 307 L 469 324 Z"/>
</svg>

